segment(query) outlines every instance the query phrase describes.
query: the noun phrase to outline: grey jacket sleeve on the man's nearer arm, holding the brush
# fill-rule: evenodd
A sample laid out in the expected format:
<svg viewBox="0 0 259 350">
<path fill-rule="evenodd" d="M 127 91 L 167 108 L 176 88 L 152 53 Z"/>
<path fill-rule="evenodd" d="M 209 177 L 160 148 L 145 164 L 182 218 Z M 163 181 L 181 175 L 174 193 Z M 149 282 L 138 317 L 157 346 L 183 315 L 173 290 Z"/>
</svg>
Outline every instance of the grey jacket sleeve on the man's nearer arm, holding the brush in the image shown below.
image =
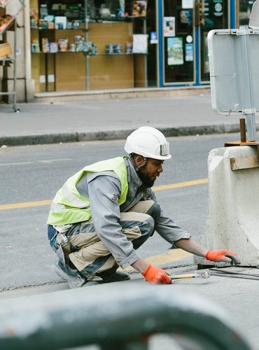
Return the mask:
<svg viewBox="0 0 259 350">
<path fill-rule="evenodd" d="M 87 183 L 90 209 L 94 228 L 105 246 L 111 251 L 120 267 L 132 265 L 140 258 L 132 242 L 123 234 L 120 225 L 120 180 L 115 174 L 111 176 L 99 173 Z"/>
</svg>

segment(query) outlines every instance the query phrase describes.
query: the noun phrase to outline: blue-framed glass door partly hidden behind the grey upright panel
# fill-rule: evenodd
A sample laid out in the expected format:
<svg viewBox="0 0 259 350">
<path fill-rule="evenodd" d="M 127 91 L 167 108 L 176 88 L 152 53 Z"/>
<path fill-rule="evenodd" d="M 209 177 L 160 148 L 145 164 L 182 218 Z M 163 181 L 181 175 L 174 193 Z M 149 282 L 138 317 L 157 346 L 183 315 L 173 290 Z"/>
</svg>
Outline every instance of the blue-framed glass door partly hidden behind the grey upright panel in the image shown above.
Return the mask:
<svg viewBox="0 0 259 350">
<path fill-rule="evenodd" d="M 209 83 L 209 57 L 207 35 L 212 29 L 229 28 L 228 0 L 196 0 L 195 28 L 197 47 L 197 61 L 199 64 L 200 83 Z"/>
</svg>

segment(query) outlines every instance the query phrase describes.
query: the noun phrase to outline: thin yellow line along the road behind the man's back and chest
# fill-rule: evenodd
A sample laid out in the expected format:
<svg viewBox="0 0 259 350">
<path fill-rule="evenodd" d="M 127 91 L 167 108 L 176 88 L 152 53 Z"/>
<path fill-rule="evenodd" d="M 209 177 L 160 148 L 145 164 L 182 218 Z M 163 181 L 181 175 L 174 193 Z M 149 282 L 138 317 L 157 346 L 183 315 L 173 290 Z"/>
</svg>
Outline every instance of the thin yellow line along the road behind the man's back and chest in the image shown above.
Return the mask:
<svg viewBox="0 0 259 350">
<path fill-rule="evenodd" d="M 172 183 L 170 185 L 155 186 L 152 189 L 154 191 L 173 190 L 174 188 L 202 185 L 202 184 L 208 183 L 208 182 L 209 182 L 208 179 L 200 179 L 200 180 Z M 41 200 L 41 201 L 38 201 L 38 202 L 24 202 L 24 203 L 3 204 L 3 205 L 0 205 L 0 210 L 28 208 L 28 207 L 38 207 L 38 206 L 41 206 L 41 205 L 50 205 L 50 203 L 51 203 L 51 200 Z"/>
</svg>

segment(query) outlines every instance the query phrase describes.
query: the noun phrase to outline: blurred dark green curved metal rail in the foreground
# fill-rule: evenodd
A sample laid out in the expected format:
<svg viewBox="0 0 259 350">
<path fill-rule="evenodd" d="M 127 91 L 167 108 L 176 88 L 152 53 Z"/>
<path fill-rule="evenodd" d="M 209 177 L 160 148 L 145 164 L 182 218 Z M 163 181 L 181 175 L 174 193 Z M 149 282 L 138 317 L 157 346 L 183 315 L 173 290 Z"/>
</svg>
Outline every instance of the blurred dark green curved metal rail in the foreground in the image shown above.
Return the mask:
<svg viewBox="0 0 259 350">
<path fill-rule="evenodd" d="M 182 349 L 251 350 L 221 307 L 169 285 L 120 282 L 0 302 L 1 350 L 144 350 L 160 333 Z"/>
</svg>

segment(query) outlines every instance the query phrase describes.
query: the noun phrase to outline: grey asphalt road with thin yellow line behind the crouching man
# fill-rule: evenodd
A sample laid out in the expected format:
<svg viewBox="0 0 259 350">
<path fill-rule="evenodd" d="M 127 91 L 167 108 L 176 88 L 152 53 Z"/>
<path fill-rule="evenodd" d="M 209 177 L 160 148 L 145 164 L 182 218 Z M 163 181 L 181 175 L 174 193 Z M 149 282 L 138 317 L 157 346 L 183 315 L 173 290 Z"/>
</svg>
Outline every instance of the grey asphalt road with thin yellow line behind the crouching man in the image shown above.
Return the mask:
<svg viewBox="0 0 259 350">
<path fill-rule="evenodd" d="M 207 183 L 195 181 L 207 179 L 209 151 L 235 136 L 169 139 L 173 157 L 165 162 L 164 172 L 155 183 L 156 195 L 167 214 L 190 230 L 194 239 L 199 239 L 206 220 L 208 189 Z M 94 141 L 1 150 L 0 250 L 6 278 L 0 280 L 0 290 L 59 281 L 51 269 L 56 258 L 46 237 L 50 200 L 69 176 L 87 163 L 124 155 L 123 146 L 124 141 Z M 179 188 L 160 187 L 176 183 L 180 183 Z M 147 258 L 169 248 L 170 245 L 155 234 L 139 251 Z M 161 258 L 160 265 L 163 263 Z"/>
</svg>

